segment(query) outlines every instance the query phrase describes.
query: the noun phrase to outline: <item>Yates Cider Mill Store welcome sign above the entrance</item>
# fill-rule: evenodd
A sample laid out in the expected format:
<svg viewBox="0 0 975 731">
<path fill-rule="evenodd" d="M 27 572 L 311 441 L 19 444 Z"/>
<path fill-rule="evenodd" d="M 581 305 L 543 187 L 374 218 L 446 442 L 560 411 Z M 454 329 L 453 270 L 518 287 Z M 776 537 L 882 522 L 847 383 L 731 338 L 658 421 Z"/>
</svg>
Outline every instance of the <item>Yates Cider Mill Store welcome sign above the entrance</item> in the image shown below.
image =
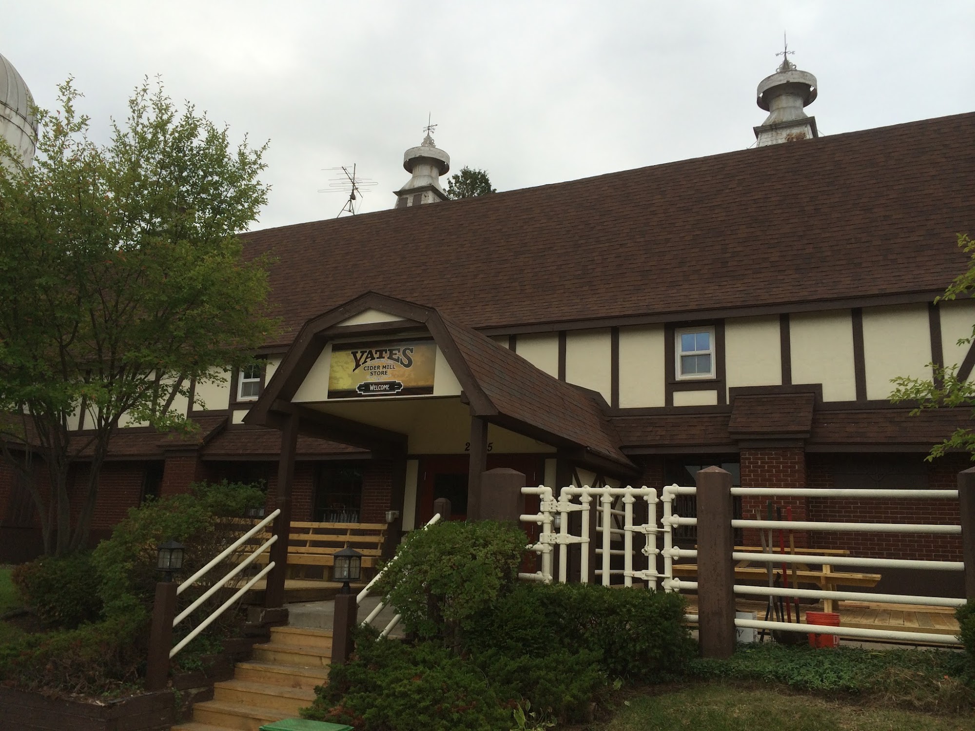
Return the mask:
<svg viewBox="0 0 975 731">
<path fill-rule="evenodd" d="M 430 340 L 339 345 L 331 351 L 329 398 L 431 396 L 436 364 Z"/>
</svg>

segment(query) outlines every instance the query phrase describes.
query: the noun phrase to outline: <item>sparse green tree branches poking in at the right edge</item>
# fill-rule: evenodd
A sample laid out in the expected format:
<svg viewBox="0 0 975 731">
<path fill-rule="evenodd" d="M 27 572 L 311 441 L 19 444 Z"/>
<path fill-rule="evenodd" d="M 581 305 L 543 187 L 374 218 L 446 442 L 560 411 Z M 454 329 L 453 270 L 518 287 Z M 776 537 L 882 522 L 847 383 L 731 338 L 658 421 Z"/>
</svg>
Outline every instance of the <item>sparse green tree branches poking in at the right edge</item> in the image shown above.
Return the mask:
<svg viewBox="0 0 975 731">
<path fill-rule="evenodd" d="M 958 234 L 957 243 L 958 248 L 969 255 L 968 269 L 963 274 L 958 275 L 951 286 L 945 290 L 945 293 L 935 298 L 935 302 L 943 299 L 952 300 L 958 295 L 969 296 L 975 292 L 975 239 L 969 237 L 968 234 Z M 971 343 L 973 337 L 975 337 L 975 326 L 972 327 L 971 335 L 958 340 L 958 345 Z M 917 407 L 912 411 L 913 414 L 934 408 L 975 406 L 975 383 L 960 380 L 957 376 L 957 365 L 946 367 L 933 363 L 928 365 L 933 374 L 930 379 L 909 378 L 907 376 L 894 378 L 892 382 L 896 388 L 890 395 L 890 401 L 894 404 L 916 403 Z M 972 459 L 975 460 L 975 430 L 959 427 L 944 442 L 935 444 L 927 459 L 932 460 L 935 457 L 941 457 L 953 449 L 970 452 Z"/>
</svg>

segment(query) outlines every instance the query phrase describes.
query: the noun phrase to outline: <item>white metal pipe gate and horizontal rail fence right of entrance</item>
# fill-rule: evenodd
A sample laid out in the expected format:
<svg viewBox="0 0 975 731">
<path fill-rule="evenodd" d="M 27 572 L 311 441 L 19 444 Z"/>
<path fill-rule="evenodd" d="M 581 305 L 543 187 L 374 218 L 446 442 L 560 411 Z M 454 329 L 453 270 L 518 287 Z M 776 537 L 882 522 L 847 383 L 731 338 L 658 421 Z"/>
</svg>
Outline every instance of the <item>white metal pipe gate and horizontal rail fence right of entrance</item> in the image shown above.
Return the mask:
<svg viewBox="0 0 975 731">
<path fill-rule="evenodd" d="M 590 546 L 596 543 L 596 566 L 592 572 L 604 586 L 612 583 L 613 576 L 621 575 L 625 586 L 633 586 L 634 580 L 644 581 L 649 588 L 659 586 L 666 592 L 681 590 L 697 591 L 697 581 L 687 581 L 674 576 L 675 561 L 696 559 L 697 551 L 675 545 L 675 532 L 681 526 L 697 526 L 697 518 L 687 518 L 675 512 L 678 499 L 682 496 L 696 496 L 697 488 L 668 485 L 659 497 L 651 487 L 589 487 L 567 486 L 555 497 L 554 490 L 545 485 L 524 487 L 524 495 L 537 496 L 538 513 L 523 515 L 524 523 L 540 526 L 537 541 L 528 546 L 540 560 L 540 567 L 534 573 L 521 573 L 520 578 L 530 581 L 550 583 L 554 580 L 567 581 L 569 550 L 578 546 L 577 565 L 579 581 L 588 582 L 590 577 Z M 732 497 L 769 498 L 855 498 L 860 500 L 904 499 L 904 500 L 956 500 L 957 490 L 934 489 L 827 489 L 827 488 L 776 488 L 776 487 L 732 487 Z M 634 507 L 637 501 L 646 504 L 645 522 L 634 522 Z M 662 516 L 657 522 L 657 503 L 662 503 Z M 595 504 L 595 505 L 594 505 Z M 578 514 L 577 519 L 572 517 Z M 595 515 L 595 519 L 592 516 Z M 838 531 L 838 532 L 883 532 L 914 533 L 928 535 L 959 535 L 960 525 L 934 523 L 880 523 L 862 521 L 820 521 L 820 520 L 762 520 L 732 519 L 732 528 L 750 528 L 764 531 Z M 764 534 L 764 533 L 763 533 Z M 635 548 L 634 538 L 642 537 L 640 547 Z M 658 540 L 662 539 L 662 540 Z M 662 543 L 662 548 L 660 544 Z M 556 556 L 556 547 L 558 555 Z M 862 566 L 880 568 L 908 568 L 925 571 L 962 571 L 961 561 L 928 560 L 919 558 L 870 558 L 855 556 L 818 556 L 811 553 L 787 554 L 772 552 L 771 537 L 768 549 L 762 553 L 734 551 L 728 556 L 729 562 L 756 562 L 759 564 L 821 564 L 829 566 Z M 662 557 L 658 568 L 657 556 Z M 621 557 L 613 561 L 614 557 Z M 556 566 L 556 561 L 558 565 Z M 615 567 L 614 567 L 615 564 Z M 769 569 L 770 571 L 770 569 Z M 784 571 L 783 571 L 784 572 Z M 555 574 L 558 574 L 556 577 Z M 838 577 L 839 578 L 839 577 Z M 841 578 L 837 582 L 841 585 Z M 828 599 L 873 601 L 901 604 L 918 604 L 932 607 L 956 607 L 965 599 L 950 596 L 921 596 L 904 594 L 878 594 L 873 592 L 846 592 L 827 589 L 799 589 L 798 587 L 753 586 L 735 583 L 734 593 L 753 598 L 781 596 L 797 599 Z M 695 615 L 688 615 L 688 621 L 696 621 Z M 914 641 L 923 643 L 958 642 L 955 635 L 936 635 L 933 633 L 901 630 L 878 630 L 846 627 L 827 627 L 800 624 L 797 622 L 776 622 L 771 620 L 737 619 L 735 625 L 741 628 L 754 628 L 766 631 L 787 631 L 809 633 L 812 627 L 816 634 L 839 635 L 878 640 Z"/>
</svg>

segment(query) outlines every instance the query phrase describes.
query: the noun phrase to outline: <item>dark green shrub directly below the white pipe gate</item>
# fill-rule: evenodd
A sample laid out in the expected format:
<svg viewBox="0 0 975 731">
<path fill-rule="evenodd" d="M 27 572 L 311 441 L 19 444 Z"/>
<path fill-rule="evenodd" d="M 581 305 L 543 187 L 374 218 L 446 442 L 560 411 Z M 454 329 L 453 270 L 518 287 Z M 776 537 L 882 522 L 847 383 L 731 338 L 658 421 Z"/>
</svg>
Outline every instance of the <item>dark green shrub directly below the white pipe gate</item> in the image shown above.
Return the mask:
<svg viewBox="0 0 975 731">
<path fill-rule="evenodd" d="M 520 584 L 468 628 L 465 646 L 475 655 L 497 650 L 509 657 L 591 653 L 611 677 L 658 682 L 679 676 L 693 654 L 683 614 L 677 594 Z"/>
</svg>

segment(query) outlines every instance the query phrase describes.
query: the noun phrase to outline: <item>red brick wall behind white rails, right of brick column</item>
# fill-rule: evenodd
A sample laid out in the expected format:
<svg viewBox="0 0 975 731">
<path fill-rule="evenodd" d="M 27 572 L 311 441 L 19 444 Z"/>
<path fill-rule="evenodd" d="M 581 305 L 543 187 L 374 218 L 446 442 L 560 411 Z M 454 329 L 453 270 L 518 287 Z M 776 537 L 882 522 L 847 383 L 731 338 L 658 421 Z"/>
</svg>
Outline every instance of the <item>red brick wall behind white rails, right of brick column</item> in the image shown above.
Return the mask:
<svg viewBox="0 0 975 731">
<path fill-rule="evenodd" d="M 920 460 L 921 456 L 918 455 L 917 459 Z M 833 487 L 835 463 L 833 455 L 810 455 L 809 486 Z M 927 486 L 930 489 L 955 489 L 957 473 L 969 465 L 967 456 L 963 454 L 937 459 L 927 467 Z M 956 500 L 811 498 L 809 515 L 813 520 L 957 524 L 958 504 Z M 961 540 L 958 536 L 815 531 L 812 541 L 816 548 L 848 549 L 854 556 L 961 560 Z"/>
</svg>

